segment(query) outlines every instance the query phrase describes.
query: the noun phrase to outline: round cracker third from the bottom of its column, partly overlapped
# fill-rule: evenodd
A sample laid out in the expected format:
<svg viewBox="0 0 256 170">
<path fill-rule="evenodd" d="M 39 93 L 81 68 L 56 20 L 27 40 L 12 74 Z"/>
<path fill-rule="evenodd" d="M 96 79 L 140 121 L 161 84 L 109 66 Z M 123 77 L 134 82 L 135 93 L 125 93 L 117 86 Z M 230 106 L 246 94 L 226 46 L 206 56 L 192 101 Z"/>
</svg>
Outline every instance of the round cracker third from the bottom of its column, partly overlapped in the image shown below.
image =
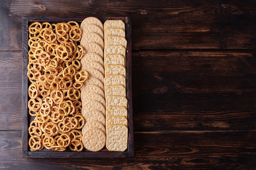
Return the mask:
<svg viewBox="0 0 256 170">
<path fill-rule="evenodd" d="M 89 110 L 88 112 L 83 113 L 83 117 L 85 118 L 85 122 L 89 122 L 89 121 L 94 120 L 94 121 L 101 122 L 101 124 L 103 124 L 105 126 L 105 123 L 106 123 L 105 116 L 98 110 L 94 110 L 94 109 Z M 110 120 L 110 122 L 111 121 L 112 120 Z M 114 124 L 114 123 L 112 123 L 112 124 Z"/>
</svg>

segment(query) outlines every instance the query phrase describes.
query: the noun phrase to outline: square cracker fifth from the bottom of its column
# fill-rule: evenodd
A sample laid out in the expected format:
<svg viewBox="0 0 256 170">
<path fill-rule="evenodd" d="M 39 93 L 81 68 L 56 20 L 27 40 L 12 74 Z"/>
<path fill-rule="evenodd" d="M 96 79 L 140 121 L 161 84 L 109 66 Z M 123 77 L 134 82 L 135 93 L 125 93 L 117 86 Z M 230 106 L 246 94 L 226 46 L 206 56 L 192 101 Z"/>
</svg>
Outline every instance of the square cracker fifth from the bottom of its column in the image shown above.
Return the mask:
<svg viewBox="0 0 256 170">
<path fill-rule="evenodd" d="M 123 85 L 107 85 L 104 92 L 105 97 L 109 95 L 126 97 L 126 88 Z"/>
</svg>

